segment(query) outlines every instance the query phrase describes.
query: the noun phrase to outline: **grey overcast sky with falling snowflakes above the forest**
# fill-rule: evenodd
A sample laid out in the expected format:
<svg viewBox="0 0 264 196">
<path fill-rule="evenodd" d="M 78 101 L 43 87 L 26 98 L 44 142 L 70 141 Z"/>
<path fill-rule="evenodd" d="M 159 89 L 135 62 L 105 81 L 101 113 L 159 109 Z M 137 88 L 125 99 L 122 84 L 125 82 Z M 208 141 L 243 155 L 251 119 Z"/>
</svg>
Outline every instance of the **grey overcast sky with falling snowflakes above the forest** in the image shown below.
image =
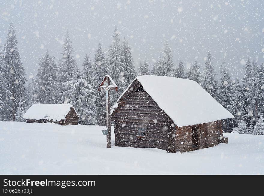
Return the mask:
<svg viewBox="0 0 264 196">
<path fill-rule="evenodd" d="M 0 45 L 5 44 L 10 22 L 14 23 L 23 65 L 35 75 L 46 50 L 61 58 L 68 30 L 74 56 L 82 65 L 85 53 L 109 47 L 116 25 L 120 39 L 128 39 L 137 67 L 140 60 L 152 66 L 166 41 L 173 61 L 185 68 L 197 60 L 204 65 L 210 50 L 214 65 L 223 58 L 241 77 L 247 57 L 264 62 L 263 1 L 0 1 Z M 3 50 L 3 47 L 1 48 Z"/>
</svg>

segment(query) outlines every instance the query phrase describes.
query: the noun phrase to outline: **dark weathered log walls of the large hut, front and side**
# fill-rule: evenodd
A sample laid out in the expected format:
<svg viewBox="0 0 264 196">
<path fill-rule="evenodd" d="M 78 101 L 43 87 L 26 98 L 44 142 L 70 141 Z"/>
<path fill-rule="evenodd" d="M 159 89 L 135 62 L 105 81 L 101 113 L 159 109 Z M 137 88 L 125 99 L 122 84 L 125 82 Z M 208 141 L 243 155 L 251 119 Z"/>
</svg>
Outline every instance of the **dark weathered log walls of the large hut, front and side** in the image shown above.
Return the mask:
<svg viewBox="0 0 264 196">
<path fill-rule="evenodd" d="M 183 151 L 192 151 L 195 150 L 192 138 L 193 126 L 199 126 L 196 149 L 215 146 L 221 142 L 221 121 L 179 128 L 143 90 L 138 81 L 135 81 L 120 98 L 119 106 L 114 110 L 111 118 L 115 126 L 115 146 L 152 147 L 164 149 L 167 152 L 178 152 L 180 143 L 184 142 Z M 135 125 L 147 126 L 146 137 L 136 136 Z"/>
</svg>

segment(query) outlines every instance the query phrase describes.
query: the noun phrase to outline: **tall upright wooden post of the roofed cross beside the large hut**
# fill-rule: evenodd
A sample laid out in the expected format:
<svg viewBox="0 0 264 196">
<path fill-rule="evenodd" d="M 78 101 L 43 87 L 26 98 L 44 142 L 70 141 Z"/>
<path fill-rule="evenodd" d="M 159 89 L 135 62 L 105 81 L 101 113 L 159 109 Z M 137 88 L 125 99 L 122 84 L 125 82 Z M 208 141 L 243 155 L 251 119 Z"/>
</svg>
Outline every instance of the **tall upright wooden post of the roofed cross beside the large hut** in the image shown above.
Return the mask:
<svg viewBox="0 0 264 196">
<path fill-rule="evenodd" d="M 110 115 L 110 79 L 107 77 L 107 87 L 105 89 L 105 98 L 106 98 L 106 126 L 108 134 L 106 136 L 106 147 L 111 148 L 111 115 Z"/>
</svg>

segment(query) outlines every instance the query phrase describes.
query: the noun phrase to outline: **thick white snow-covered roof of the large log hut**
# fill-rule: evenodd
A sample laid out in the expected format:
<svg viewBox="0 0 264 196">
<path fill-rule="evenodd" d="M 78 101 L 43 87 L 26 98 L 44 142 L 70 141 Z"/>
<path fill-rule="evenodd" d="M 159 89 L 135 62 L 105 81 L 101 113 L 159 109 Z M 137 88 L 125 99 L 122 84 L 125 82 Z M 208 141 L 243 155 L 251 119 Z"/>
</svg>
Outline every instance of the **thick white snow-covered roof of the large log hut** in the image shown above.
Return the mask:
<svg viewBox="0 0 264 196">
<path fill-rule="evenodd" d="M 234 118 L 195 81 L 166 76 L 138 76 L 135 80 L 178 127 Z M 113 109 L 118 107 L 118 101 Z"/>
</svg>

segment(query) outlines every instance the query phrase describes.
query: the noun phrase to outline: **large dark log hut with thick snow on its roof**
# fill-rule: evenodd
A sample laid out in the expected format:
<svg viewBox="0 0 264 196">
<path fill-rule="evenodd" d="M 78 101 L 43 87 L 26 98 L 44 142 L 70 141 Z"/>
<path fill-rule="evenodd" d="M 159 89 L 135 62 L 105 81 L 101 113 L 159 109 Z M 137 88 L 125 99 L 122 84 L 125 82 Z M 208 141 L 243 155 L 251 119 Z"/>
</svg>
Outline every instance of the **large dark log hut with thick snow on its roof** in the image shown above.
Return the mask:
<svg viewBox="0 0 264 196">
<path fill-rule="evenodd" d="M 233 118 L 195 81 L 165 76 L 136 77 L 113 106 L 111 117 L 115 146 L 167 152 L 227 143 L 221 120 Z"/>
</svg>

